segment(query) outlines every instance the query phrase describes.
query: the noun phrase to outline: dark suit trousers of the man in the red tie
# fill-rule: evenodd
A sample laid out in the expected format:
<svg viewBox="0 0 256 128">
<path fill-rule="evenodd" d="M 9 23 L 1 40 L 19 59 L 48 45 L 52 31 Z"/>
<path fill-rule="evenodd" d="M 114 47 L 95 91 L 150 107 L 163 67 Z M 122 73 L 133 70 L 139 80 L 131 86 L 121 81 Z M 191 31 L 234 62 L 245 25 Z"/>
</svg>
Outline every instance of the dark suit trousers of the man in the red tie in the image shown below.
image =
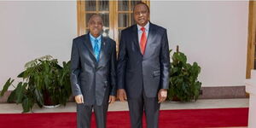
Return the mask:
<svg viewBox="0 0 256 128">
<path fill-rule="evenodd" d="M 158 98 L 149 98 L 144 93 L 137 98 L 128 98 L 132 128 L 143 128 L 143 112 L 147 128 L 158 128 L 160 103 Z"/>
</svg>

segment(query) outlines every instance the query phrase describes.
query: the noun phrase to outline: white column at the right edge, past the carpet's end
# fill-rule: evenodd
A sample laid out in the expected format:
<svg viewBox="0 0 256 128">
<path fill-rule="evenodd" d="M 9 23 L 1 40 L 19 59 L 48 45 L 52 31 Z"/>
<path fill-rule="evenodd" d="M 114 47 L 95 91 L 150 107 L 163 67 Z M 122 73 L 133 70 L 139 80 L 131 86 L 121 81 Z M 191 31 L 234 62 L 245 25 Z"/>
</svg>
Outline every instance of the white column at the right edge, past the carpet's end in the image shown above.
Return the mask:
<svg viewBox="0 0 256 128">
<path fill-rule="evenodd" d="M 245 84 L 250 94 L 248 128 L 256 128 L 256 70 L 251 71 L 251 79 L 246 79 Z"/>
</svg>

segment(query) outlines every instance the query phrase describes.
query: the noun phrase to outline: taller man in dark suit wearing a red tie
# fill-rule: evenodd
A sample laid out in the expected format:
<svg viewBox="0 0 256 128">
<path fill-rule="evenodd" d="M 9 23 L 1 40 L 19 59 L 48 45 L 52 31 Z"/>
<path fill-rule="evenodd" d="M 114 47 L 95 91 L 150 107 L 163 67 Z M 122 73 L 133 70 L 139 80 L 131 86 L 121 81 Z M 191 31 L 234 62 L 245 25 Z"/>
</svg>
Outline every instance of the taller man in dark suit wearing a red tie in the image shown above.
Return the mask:
<svg viewBox="0 0 256 128">
<path fill-rule="evenodd" d="M 137 3 L 133 10 L 136 25 L 121 32 L 117 84 L 119 100 L 128 101 L 131 127 L 157 128 L 160 102 L 169 86 L 170 56 L 166 29 L 149 22 L 149 8 Z"/>
</svg>

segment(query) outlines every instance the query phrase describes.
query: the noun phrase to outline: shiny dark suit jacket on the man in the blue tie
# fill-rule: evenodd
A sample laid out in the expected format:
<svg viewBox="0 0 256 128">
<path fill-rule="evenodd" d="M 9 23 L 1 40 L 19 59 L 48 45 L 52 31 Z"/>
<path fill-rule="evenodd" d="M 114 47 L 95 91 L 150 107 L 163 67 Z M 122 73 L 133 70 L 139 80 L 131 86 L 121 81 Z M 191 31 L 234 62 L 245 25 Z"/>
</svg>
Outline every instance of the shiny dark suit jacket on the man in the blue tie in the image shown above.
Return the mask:
<svg viewBox="0 0 256 128">
<path fill-rule="evenodd" d="M 102 105 L 105 93 L 116 95 L 116 49 L 110 38 L 102 38 L 97 62 L 86 34 L 73 39 L 71 84 L 73 96 L 83 95 L 85 105 Z M 109 91 L 106 91 L 109 90 Z"/>
</svg>

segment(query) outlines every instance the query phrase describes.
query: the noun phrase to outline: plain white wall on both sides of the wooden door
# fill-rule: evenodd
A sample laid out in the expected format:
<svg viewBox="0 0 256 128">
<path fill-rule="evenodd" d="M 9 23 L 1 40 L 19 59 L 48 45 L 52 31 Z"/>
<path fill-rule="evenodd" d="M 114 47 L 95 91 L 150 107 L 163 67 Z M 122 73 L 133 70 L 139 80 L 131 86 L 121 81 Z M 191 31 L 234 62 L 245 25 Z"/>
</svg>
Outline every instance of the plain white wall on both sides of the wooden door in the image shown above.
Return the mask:
<svg viewBox="0 0 256 128">
<path fill-rule="evenodd" d="M 202 67 L 203 86 L 242 85 L 246 73 L 247 2 L 152 1 L 151 21 L 168 30 Z M 76 2 L 0 2 L 0 90 L 26 61 L 53 55 L 70 59 L 77 36 Z"/>
</svg>

